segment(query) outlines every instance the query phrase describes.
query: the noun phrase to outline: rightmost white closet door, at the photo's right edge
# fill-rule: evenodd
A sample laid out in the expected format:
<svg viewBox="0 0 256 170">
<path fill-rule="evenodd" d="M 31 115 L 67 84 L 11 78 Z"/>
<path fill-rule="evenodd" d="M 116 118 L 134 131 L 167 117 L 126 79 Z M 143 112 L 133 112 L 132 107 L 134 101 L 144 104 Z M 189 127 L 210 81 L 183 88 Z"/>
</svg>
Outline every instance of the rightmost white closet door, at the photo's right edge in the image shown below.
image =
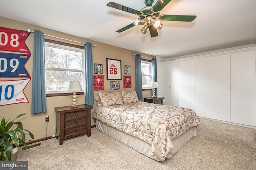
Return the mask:
<svg viewBox="0 0 256 170">
<path fill-rule="evenodd" d="M 231 54 L 231 122 L 256 126 L 255 51 Z"/>
</svg>

